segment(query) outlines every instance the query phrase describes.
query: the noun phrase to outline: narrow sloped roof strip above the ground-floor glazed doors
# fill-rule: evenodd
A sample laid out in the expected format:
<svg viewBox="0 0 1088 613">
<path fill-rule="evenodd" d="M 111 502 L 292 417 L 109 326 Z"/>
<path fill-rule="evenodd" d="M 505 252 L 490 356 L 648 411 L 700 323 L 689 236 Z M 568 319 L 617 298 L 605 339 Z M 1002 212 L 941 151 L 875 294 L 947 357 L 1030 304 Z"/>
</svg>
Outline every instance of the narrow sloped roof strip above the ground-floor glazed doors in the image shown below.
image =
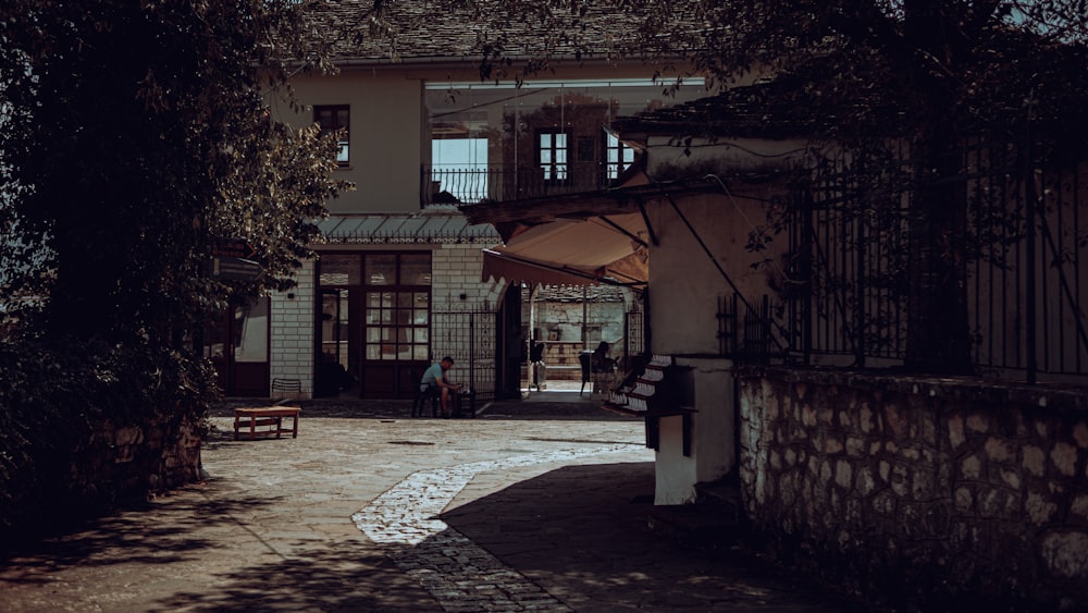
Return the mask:
<svg viewBox="0 0 1088 613">
<path fill-rule="evenodd" d="M 411 213 L 333 214 L 318 223 L 327 243 L 481 243 L 502 241 L 490 223 L 469 223 L 456 210 Z"/>
</svg>

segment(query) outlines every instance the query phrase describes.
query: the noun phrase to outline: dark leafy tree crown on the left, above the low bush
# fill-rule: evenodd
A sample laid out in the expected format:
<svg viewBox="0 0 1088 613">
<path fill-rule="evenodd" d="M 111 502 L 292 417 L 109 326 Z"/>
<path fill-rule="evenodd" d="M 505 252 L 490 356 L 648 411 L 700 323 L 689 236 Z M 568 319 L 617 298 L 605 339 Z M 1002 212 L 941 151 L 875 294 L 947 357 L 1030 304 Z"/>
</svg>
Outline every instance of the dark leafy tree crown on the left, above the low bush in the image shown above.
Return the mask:
<svg viewBox="0 0 1088 613">
<path fill-rule="evenodd" d="M 48 295 L 37 330 L 171 343 L 232 294 L 290 283 L 344 187 L 333 140 L 269 111 L 301 15 L 289 0 L 0 9 L 4 208 L 46 258 L 22 278 Z M 254 283 L 206 273 L 228 238 L 256 248 Z"/>
</svg>

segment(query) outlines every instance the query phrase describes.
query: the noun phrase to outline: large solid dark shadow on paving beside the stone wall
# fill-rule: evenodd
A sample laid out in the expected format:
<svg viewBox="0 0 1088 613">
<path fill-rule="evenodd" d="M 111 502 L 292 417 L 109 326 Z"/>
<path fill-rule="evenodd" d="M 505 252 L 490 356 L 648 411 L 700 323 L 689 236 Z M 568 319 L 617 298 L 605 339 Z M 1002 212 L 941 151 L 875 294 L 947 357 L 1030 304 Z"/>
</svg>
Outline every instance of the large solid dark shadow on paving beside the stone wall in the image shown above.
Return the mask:
<svg viewBox="0 0 1088 613">
<path fill-rule="evenodd" d="M 653 463 L 567 466 L 442 518 L 576 611 L 865 610 L 742 548 L 651 530 L 653 494 Z"/>
</svg>

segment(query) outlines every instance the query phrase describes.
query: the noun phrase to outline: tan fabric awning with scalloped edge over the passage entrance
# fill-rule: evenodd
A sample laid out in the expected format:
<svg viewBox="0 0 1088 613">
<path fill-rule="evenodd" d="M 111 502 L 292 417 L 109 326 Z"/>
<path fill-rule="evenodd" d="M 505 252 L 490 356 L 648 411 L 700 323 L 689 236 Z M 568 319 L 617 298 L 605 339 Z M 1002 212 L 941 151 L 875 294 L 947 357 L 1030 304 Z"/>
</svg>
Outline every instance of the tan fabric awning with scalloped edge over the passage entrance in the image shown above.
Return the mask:
<svg viewBox="0 0 1088 613">
<path fill-rule="evenodd" d="M 635 287 L 650 280 L 641 213 L 557 220 L 519 230 L 505 245 L 484 253 L 484 280 Z"/>
</svg>

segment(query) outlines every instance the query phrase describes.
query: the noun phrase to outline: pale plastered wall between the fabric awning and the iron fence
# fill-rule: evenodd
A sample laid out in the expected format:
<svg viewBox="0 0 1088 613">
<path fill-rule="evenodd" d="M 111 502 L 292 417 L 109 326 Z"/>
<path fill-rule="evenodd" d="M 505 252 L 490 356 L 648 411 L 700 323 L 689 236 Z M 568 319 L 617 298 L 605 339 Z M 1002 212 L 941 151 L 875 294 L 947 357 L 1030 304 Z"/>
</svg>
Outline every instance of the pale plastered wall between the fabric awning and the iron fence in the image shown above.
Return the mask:
<svg viewBox="0 0 1088 613">
<path fill-rule="evenodd" d="M 746 144 L 745 149 L 758 146 Z M 778 143 L 766 145 L 766 148 L 768 155 L 783 154 L 795 150 L 795 145 Z M 680 152 L 675 156 L 666 152 L 658 149 L 658 160 L 682 161 Z M 708 155 L 705 149 L 701 152 Z M 730 158 L 749 155 L 740 148 L 719 148 L 718 154 L 716 159 L 724 165 L 749 168 L 743 157 Z M 759 254 L 745 248 L 754 223 L 765 220 L 767 200 L 780 196 L 781 189 L 772 185 L 735 183 L 727 187 L 728 194 L 721 189 L 675 197 L 680 213 L 668 200 L 650 208 L 651 223 L 658 236 L 658 245 L 652 249 L 650 258 L 652 350 L 655 354 L 679 356 L 677 364 L 691 369 L 688 393 L 692 397 L 688 400 L 696 410 L 692 416 L 689 456 L 682 453 L 682 418 L 662 419 L 656 504 L 694 502 L 696 483 L 718 480 L 735 469 L 732 363 L 712 357 L 721 352 L 719 299 L 739 293 L 756 306 L 765 294 L 774 299 L 772 287 L 781 286 L 780 250 L 786 248 L 784 243 L 781 240 L 772 242 Z M 764 258 L 770 258 L 772 263 L 752 266 Z M 725 275 L 718 271 L 718 266 Z"/>
</svg>

